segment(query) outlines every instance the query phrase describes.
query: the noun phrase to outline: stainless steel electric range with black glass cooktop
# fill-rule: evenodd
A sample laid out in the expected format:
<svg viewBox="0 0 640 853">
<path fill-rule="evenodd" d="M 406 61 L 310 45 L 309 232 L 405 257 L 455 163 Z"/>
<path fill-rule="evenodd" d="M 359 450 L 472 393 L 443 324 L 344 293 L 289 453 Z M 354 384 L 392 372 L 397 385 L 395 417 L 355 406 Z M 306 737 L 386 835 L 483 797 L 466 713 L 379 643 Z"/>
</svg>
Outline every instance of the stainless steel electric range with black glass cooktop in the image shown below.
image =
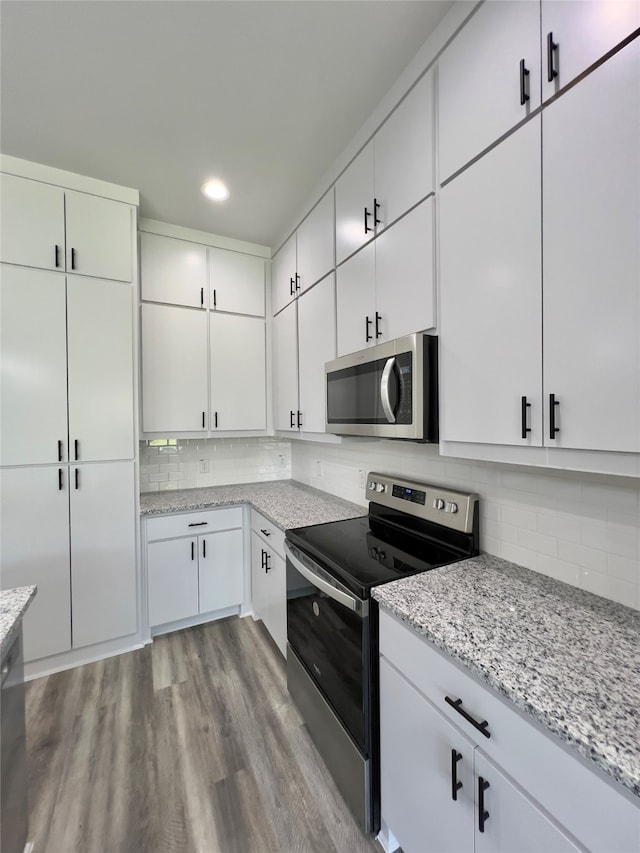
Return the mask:
<svg viewBox="0 0 640 853">
<path fill-rule="evenodd" d="M 478 496 L 371 473 L 369 514 L 287 531 L 287 684 L 362 829 L 380 828 L 371 590 L 478 554 Z"/>
</svg>

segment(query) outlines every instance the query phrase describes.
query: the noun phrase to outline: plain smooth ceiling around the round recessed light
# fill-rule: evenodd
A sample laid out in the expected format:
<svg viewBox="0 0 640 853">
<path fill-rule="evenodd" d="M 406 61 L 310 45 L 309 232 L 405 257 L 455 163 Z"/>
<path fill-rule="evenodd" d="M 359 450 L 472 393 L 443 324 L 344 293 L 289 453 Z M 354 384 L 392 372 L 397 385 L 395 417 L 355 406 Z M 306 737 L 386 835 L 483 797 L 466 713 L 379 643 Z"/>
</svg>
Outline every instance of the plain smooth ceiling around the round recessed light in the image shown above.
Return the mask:
<svg viewBox="0 0 640 853">
<path fill-rule="evenodd" d="M 451 5 L 3 0 L 0 149 L 273 247 Z"/>
</svg>

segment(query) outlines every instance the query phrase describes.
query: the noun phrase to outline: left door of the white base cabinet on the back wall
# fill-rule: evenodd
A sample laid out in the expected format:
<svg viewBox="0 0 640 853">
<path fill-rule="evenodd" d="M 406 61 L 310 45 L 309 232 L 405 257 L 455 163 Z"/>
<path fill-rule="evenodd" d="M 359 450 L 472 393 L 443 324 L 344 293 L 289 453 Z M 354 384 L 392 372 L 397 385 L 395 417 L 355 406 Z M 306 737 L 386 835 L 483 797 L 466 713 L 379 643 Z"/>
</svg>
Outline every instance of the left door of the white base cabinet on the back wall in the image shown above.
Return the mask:
<svg viewBox="0 0 640 853">
<path fill-rule="evenodd" d="M 198 613 L 198 540 L 169 539 L 147 546 L 149 625 Z"/>
</svg>

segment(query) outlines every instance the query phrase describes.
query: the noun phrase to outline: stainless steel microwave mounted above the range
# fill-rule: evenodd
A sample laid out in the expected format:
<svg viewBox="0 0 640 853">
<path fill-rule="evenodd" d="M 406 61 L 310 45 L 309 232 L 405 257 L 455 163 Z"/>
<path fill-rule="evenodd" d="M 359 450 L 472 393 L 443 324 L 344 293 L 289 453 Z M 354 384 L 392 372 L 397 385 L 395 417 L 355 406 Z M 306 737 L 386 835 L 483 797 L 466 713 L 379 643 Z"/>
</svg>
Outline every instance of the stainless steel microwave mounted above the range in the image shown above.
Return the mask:
<svg viewBox="0 0 640 853">
<path fill-rule="evenodd" d="M 438 441 L 438 338 L 415 334 L 325 364 L 326 431 Z"/>
</svg>

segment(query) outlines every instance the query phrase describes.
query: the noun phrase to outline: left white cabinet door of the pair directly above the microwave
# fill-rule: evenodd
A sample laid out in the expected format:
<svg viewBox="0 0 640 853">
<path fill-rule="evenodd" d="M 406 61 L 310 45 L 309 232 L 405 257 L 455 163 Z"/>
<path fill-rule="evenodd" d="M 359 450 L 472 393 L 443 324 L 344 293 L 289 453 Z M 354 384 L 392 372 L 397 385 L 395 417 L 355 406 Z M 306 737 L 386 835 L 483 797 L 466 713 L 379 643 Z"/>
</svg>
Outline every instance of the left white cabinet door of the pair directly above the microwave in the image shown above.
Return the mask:
<svg viewBox="0 0 640 853">
<path fill-rule="evenodd" d="M 336 270 L 338 355 L 376 342 L 375 244 L 366 246 Z"/>
</svg>

